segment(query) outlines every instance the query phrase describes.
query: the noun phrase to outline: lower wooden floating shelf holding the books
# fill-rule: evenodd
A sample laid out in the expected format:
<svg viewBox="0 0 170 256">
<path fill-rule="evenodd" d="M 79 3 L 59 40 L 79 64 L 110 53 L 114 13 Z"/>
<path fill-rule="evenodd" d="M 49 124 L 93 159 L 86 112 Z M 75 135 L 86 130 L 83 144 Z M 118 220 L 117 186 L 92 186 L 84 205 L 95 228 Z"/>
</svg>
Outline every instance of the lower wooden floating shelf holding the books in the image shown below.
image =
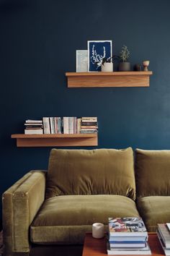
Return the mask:
<svg viewBox="0 0 170 256">
<path fill-rule="evenodd" d="M 12 135 L 17 139 L 17 147 L 71 147 L 71 146 L 97 146 L 98 136 L 95 134 L 75 135 Z"/>
</svg>

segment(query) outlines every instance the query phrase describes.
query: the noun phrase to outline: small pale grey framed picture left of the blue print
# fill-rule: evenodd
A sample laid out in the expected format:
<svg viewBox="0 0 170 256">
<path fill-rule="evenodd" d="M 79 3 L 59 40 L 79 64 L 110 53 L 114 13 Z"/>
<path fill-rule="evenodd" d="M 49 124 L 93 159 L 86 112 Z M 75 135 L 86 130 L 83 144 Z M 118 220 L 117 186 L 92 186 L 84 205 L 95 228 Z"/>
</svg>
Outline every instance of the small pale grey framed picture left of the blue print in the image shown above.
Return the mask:
<svg viewBox="0 0 170 256">
<path fill-rule="evenodd" d="M 88 51 L 76 50 L 76 72 L 87 72 Z"/>
</svg>

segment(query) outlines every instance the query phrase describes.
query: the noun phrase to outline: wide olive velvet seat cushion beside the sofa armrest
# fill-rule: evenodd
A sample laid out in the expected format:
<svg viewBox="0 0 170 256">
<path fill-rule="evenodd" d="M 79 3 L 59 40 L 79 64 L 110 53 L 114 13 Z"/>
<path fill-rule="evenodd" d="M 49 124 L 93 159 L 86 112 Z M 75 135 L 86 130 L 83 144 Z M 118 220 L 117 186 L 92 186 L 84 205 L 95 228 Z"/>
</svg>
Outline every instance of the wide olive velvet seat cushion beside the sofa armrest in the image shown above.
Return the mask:
<svg viewBox="0 0 170 256">
<path fill-rule="evenodd" d="M 37 244 L 81 244 L 94 222 L 136 217 L 135 202 L 119 195 L 65 195 L 45 200 L 30 228 Z"/>
</svg>

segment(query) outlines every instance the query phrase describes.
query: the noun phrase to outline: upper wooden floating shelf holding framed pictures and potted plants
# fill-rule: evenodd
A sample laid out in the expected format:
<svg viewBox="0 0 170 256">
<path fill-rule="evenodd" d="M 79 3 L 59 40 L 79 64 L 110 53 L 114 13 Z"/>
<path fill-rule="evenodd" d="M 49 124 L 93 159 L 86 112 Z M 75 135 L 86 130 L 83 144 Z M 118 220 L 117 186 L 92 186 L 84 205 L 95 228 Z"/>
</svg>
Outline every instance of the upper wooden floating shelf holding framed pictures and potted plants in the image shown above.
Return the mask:
<svg viewBox="0 0 170 256">
<path fill-rule="evenodd" d="M 148 87 L 152 71 L 66 72 L 68 88 Z"/>
</svg>

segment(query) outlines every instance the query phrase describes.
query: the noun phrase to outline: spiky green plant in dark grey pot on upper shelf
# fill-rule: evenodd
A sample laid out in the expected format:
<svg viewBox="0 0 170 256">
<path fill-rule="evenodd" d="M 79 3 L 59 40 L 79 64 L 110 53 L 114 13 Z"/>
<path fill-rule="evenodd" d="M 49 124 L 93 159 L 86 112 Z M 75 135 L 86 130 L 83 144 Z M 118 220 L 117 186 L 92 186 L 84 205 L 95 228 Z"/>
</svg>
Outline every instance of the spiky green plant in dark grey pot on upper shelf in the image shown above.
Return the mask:
<svg viewBox="0 0 170 256">
<path fill-rule="evenodd" d="M 128 59 L 130 57 L 130 51 L 128 50 L 127 46 L 122 46 L 120 51 L 120 64 L 119 64 L 119 71 L 130 71 L 130 62 Z"/>
</svg>

